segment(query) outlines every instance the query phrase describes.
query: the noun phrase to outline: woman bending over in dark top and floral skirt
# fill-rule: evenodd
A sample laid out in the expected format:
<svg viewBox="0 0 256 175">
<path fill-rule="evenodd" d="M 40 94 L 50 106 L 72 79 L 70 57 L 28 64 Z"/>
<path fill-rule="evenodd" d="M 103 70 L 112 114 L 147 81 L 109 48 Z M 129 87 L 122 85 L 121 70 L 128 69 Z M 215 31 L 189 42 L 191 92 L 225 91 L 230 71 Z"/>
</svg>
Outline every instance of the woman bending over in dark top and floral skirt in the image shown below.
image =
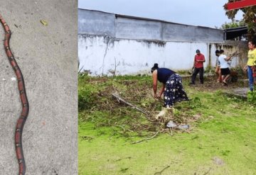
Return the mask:
<svg viewBox="0 0 256 175">
<path fill-rule="evenodd" d="M 154 64 L 151 68 L 153 77 L 154 98 L 160 98 L 164 93 L 164 107 L 170 108 L 177 101 L 188 101 L 188 96 L 183 89 L 182 79 L 179 74 L 171 69 L 159 68 L 158 64 Z M 159 94 L 156 94 L 157 81 L 162 83 Z"/>
</svg>

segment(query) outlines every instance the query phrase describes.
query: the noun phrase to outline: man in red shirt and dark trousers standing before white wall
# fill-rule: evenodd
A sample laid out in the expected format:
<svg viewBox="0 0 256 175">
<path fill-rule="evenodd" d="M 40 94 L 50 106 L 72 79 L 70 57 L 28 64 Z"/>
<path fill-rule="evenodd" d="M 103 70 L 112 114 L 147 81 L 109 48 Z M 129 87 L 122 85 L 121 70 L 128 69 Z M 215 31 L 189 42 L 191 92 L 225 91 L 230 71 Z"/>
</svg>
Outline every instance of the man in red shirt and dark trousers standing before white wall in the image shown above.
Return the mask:
<svg viewBox="0 0 256 175">
<path fill-rule="evenodd" d="M 191 77 L 191 83 L 195 84 L 196 75 L 199 72 L 199 79 L 201 84 L 203 84 L 203 62 L 206 62 L 206 59 L 203 54 L 201 54 L 200 50 L 196 50 L 196 55 L 193 62 L 193 74 Z"/>
</svg>

